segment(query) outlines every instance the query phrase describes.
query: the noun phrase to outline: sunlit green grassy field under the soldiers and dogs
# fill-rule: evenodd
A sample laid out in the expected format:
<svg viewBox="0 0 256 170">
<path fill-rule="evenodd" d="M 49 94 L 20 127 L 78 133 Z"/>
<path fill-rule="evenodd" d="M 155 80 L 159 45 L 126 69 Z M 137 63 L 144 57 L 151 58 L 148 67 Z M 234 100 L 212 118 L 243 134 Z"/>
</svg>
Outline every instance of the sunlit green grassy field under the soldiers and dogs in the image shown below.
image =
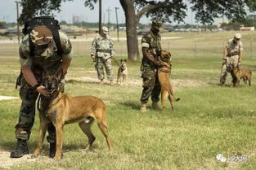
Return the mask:
<svg viewBox="0 0 256 170">
<path fill-rule="evenodd" d="M 243 67 L 253 70 L 252 86 L 241 83 L 231 88 L 218 86 L 222 46 L 234 32 L 171 33 L 182 39 L 163 41 L 173 54 L 171 80 L 175 95 L 181 101 L 169 103 L 165 111 L 141 113 L 140 62 L 128 63 L 128 85 L 99 85 L 92 60 L 85 54 L 74 55 L 65 92 L 72 95 L 95 95 L 107 106 L 107 120 L 114 150 L 108 151 L 105 137 L 92 126 L 97 137 L 95 151 L 83 150 L 88 142 L 78 124 L 65 126 L 64 158 L 54 161 L 47 157 L 48 144 L 34 161 L 16 163 L 11 169 L 255 169 L 256 167 L 256 59 L 252 59 L 250 41 L 256 33 L 242 33 L 245 44 Z M 191 40 L 198 50 L 191 54 Z M 200 42 L 200 43 L 199 43 Z M 117 42 L 116 42 L 117 43 Z M 171 43 L 170 45 L 168 43 Z M 118 44 L 118 43 L 117 43 Z M 12 48 L 12 47 L 11 47 Z M 0 95 L 19 96 L 15 89 L 20 66 L 10 46 L 0 46 Z M 13 48 L 17 50 L 16 47 Z M 194 51 L 195 52 L 195 51 Z M 117 54 L 117 59 L 124 56 Z M 113 63 L 116 77 L 118 67 Z M 0 101 L 0 153 L 11 151 L 15 144 L 14 126 L 18 120 L 20 99 Z M 29 140 L 30 153 L 38 140 L 38 114 Z M 245 155 L 245 162 L 224 157 Z M 1 157 L 0 157 L 1 158 Z M 1 166 L 0 166 L 1 167 Z"/>
</svg>

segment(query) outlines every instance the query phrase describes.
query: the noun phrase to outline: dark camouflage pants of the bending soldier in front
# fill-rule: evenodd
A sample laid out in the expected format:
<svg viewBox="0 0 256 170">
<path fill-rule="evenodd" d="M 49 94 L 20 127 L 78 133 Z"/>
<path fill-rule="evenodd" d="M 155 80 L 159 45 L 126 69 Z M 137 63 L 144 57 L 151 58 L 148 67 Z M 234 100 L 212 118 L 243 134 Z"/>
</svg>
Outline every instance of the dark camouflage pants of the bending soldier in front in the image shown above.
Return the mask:
<svg viewBox="0 0 256 170">
<path fill-rule="evenodd" d="M 34 73 L 38 83 L 42 81 L 42 73 Z M 64 87 L 64 84 L 62 85 Z M 64 89 L 64 88 L 62 88 Z M 20 98 L 22 100 L 20 106 L 20 118 L 16 124 L 16 138 L 29 140 L 31 129 L 34 125 L 35 104 L 38 98 L 38 93 L 34 92 L 33 87 L 29 85 L 24 76 L 21 77 Z M 48 142 L 56 142 L 56 129 L 52 123 L 47 124 Z"/>
</svg>

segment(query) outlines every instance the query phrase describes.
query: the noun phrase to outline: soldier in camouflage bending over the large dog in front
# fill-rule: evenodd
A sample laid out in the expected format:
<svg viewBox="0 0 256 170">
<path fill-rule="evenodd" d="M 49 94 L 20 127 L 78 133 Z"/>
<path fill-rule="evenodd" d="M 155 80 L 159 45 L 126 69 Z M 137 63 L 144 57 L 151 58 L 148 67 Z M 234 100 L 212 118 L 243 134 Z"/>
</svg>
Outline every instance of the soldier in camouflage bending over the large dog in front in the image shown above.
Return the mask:
<svg viewBox="0 0 256 170">
<path fill-rule="evenodd" d="M 53 74 L 58 69 L 67 72 L 71 62 L 71 43 L 65 33 L 59 32 L 61 41 L 61 56 L 57 54 L 56 43 L 52 36 L 52 30 L 46 26 L 35 27 L 30 33 L 31 41 L 34 43 L 34 56 L 30 55 L 29 34 L 20 44 L 20 66 L 22 76 L 20 77 L 20 118 L 16 124 L 16 148 L 11 151 L 11 158 L 20 158 L 29 153 L 27 140 L 34 124 L 35 102 L 38 94 L 49 97 L 49 92 L 40 85 L 43 72 Z M 64 86 L 63 86 L 64 87 Z M 48 124 L 47 131 L 50 142 L 50 157 L 54 157 L 56 150 L 56 129 L 53 124 Z"/>
</svg>

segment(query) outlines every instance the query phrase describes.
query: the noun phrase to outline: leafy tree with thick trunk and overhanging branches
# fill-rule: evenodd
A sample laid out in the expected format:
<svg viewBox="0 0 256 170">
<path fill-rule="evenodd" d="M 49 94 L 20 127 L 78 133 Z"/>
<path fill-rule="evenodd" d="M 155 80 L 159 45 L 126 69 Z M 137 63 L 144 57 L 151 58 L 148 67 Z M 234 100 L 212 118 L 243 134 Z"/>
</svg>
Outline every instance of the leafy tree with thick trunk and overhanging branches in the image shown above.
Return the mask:
<svg viewBox="0 0 256 170">
<path fill-rule="evenodd" d="M 21 0 L 23 7 L 20 22 L 34 15 L 48 15 L 53 10 L 60 10 L 61 1 L 73 0 Z M 84 0 L 86 7 L 94 8 L 98 0 Z M 127 28 L 128 59 L 137 60 L 138 41 L 137 24 L 141 15 L 158 18 L 165 22 L 182 22 L 186 17 L 187 7 L 195 12 L 195 20 L 201 24 L 213 24 L 214 18 L 226 16 L 227 19 L 245 20 L 246 11 L 256 11 L 255 0 L 119 0 L 124 9 Z"/>
</svg>

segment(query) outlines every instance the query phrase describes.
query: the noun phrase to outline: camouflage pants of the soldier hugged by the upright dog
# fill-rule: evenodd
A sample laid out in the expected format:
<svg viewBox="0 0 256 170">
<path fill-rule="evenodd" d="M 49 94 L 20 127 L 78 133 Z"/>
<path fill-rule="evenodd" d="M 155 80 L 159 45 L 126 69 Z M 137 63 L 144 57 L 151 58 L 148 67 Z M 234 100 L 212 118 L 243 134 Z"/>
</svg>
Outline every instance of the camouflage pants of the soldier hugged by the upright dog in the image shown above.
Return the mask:
<svg viewBox="0 0 256 170">
<path fill-rule="evenodd" d="M 141 103 L 148 102 L 148 98 L 151 96 L 152 102 L 159 102 L 159 94 L 161 92 L 161 86 L 159 84 L 157 69 L 151 68 L 148 65 L 143 66 L 143 90 L 141 94 Z"/>
</svg>

